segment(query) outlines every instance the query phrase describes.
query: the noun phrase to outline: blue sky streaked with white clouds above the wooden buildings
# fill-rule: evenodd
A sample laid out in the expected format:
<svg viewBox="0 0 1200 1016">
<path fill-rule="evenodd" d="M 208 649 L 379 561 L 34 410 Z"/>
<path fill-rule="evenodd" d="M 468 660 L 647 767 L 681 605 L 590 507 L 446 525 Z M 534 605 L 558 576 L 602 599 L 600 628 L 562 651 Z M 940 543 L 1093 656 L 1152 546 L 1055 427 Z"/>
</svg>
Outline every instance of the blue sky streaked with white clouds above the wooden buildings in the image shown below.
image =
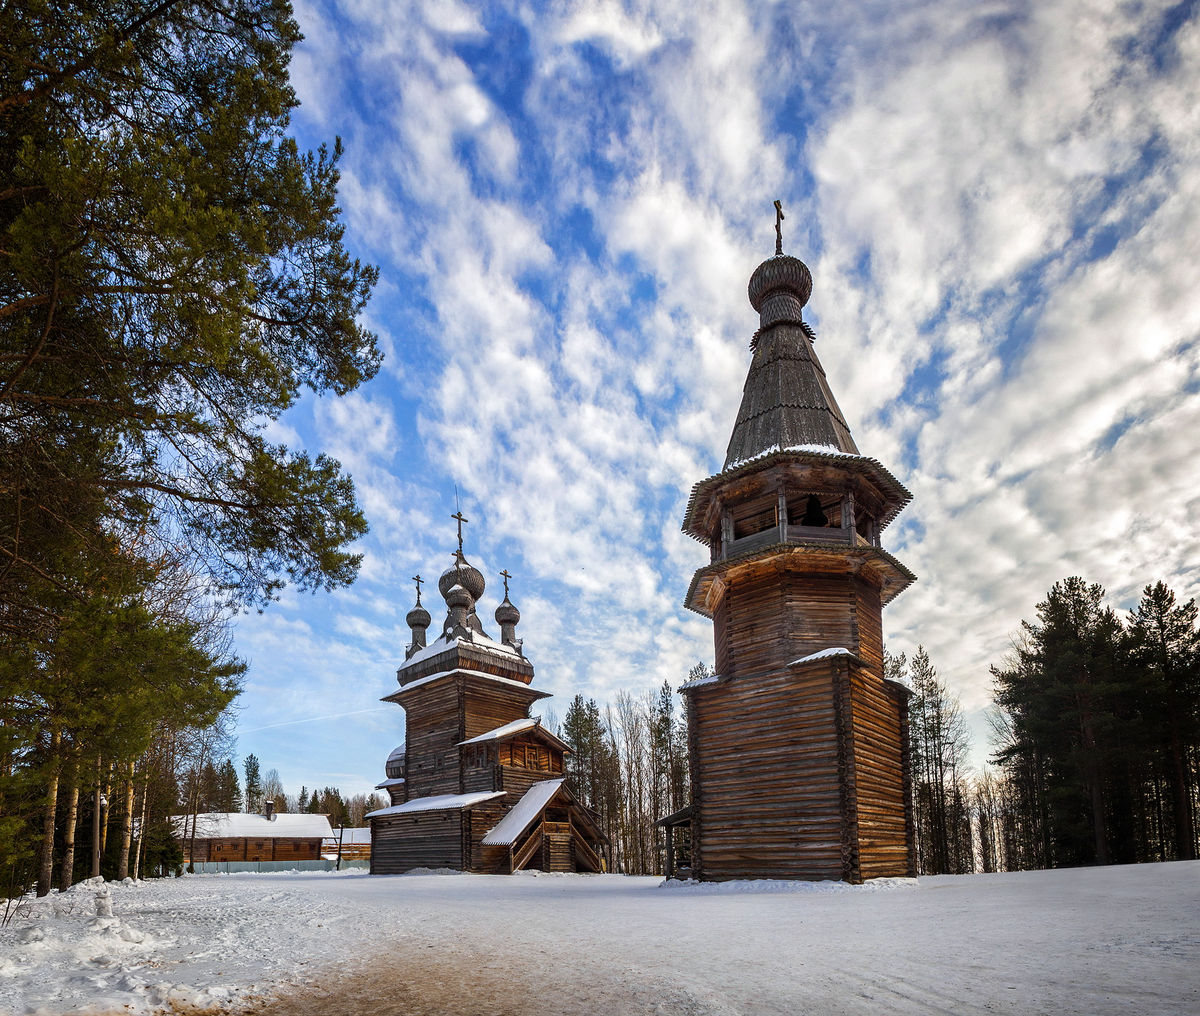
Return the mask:
<svg viewBox="0 0 1200 1016">
<path fill-rule="evenodd" d="M 236 623 L 239 757 L 370 789 L 409 577 L 514 575 L 554 693 L 712 661 L 679 525 L 724 459 L 774 245 L 859 447 L 914 494 L 884 612 L 986 755 L 989 665 L 1058 578 L 1200 594 L 1194 2 L 299 2 L 298 138 L 346 144 L 386 361 L 275 437 L 336 456 L 362 572 Z M 432 585 L 428 587 L 432 590 Z M 432 590 L 432 601 L 437 593 Z M 444 613 L 428 602 L 434 626 Z"/>
</svg>

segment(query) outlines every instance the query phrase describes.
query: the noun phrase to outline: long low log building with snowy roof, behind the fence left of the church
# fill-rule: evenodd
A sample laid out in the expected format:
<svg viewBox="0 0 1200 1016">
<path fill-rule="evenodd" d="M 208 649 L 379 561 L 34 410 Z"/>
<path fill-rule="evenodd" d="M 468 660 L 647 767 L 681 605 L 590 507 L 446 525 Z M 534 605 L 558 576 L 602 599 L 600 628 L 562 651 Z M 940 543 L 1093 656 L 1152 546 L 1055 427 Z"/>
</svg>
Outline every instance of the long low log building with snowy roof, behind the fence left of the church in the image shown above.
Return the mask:
<svg viewBox="0 0 1200 1016">
<path fill-rule="evenodd" d="M 200 861 L 316 861 L 332 835 L 323 814 L 208 812 L 175 816 L 172 826 L 185 864 Z M 194 848 L 194 849 L 193 849 Z"/>
</svg>

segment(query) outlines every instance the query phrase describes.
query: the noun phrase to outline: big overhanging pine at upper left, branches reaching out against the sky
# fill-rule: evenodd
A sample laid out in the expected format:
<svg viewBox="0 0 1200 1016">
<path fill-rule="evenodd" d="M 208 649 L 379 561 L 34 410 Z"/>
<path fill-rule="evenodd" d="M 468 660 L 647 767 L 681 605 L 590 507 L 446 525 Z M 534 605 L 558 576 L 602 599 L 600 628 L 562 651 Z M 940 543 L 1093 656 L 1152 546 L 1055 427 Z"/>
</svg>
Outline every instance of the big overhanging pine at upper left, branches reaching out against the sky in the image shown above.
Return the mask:
<svg viewBox="0 0 1200 1016">
<path fill-rule="evenodd" d="M 0 5 L 0 629 L 114 529 L 242 603 L 353 579 L 349 479 L 262 433 L 379 362 L 340 148 L 286 136 L 299 37 L 282 0 Z"/>
</svg>

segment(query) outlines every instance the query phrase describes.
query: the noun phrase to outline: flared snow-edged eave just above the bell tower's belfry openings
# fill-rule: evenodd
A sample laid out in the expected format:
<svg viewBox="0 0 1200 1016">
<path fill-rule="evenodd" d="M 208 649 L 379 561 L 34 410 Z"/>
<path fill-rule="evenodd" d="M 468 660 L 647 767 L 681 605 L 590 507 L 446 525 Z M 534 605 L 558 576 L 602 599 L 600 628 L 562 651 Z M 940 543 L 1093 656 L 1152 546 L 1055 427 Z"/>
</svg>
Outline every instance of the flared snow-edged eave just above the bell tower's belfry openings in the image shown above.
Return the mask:
<svg viewBox="0 0 1200 1016">
<path fill-rule="evenodd" d="M 704 518 L 715 493 L 725 485 L 736 483 L 743 477 L 763 473 L 776 465 L 826 467 L 844 470 L 860 476 L 878 491 L 887 504 L 887 510 L 878 518 L 880 529 L 894 519 L 912 494 L 878 459 L 868 458 L 857 452 L 846 452 L 829 445 L 773 445 L 750 458 L 737 459 L 720 473 L 701 480 L 691 488 L 688 510 L 684 512 L 683 531 L 702 543 L 710 545 L 712 533 Z"/>
</svg>

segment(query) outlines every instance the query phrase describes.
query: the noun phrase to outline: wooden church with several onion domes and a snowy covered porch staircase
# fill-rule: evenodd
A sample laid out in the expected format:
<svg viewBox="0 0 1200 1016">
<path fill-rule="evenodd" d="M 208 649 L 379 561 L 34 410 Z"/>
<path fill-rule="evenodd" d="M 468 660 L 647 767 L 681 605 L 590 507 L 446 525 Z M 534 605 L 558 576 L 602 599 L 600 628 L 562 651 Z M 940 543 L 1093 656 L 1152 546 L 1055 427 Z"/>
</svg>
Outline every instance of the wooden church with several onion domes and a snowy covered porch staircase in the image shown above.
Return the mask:
<svg viewBox="0 0 1200 1016">
<path fill-rule="evenodd" d="M 400 689 L 384 698 L 403 707 L 406 743 L 388 758 L 391 805 L 371 812 L 371 871 L 414 867 L 508 874 L 522 868 L 600 871 L 608 842 L 596 816 L 564 782 L 569 749 L 529 716 L 548 693 L 533 687 L 533 663 L 509 600 L 496 609 L 499 641 L 484 630 L 476 605 L 484 576 L 462 551 L 438 582 L 446 603 L 442 633 L 426 644 L 432 618 L 421 605 L 397 671 Z"/>
</svg>

